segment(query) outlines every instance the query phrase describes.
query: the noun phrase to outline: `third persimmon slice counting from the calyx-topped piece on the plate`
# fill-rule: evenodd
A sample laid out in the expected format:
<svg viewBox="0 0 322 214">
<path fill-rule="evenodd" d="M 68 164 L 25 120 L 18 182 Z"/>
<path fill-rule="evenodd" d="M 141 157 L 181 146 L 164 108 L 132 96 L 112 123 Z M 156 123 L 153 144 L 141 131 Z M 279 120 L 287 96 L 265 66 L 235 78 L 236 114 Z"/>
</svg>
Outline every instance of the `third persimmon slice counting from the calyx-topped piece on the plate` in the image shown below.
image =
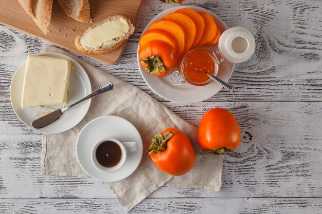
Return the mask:
<svg viewBox="0 0 322 214">
<path fill-rule="evenodd" d="M 177 22 L 185 29 L 185 32 L 187 34 L 187 39 L 186 39 L 184 53 L 188 52 L 188 50 L 190 50 L 192 46 L 192 42 L 195 36 L 195 24 L 191 20 L 191 18 L 189 18 L 189 16 L 183 13 L 169 13 L 165 15 L 162 19 L 172 20 L 174 22 Z"/>
</svg>

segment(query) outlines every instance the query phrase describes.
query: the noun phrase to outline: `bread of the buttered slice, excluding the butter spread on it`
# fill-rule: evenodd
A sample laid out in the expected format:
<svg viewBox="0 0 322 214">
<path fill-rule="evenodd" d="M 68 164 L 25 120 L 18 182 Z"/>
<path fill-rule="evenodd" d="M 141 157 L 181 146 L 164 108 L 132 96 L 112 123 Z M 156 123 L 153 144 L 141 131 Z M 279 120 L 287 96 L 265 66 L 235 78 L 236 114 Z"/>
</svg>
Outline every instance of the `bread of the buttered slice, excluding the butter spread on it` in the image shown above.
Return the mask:
<svg viewBox="0 0 322 214">
<path fill-rule="evenodd" d="M 121 36 L 121 37 L 117 37 L 115 38 L 114 40 L 111 41 L 111 44 L 108 44 L 108 45 L 102 45 L 101 47 L 99 47 L 98 49 L 85 49 L 82 44 L 81 44 L 81 40 L 82 40 L 82 37 L 84 35 L 84 33 L 88 30 L 91 30 L 99 25 L 102 25 L 104 24 L 105 22 L 111 22 L 111 21 L 116 21 L 116 20 L 119 20 L 121 18 L 124 18 L 127 20 L 129 26 L 130 26 L 130 29 L 128 31 L 128 33 L 126 33 L 125 35 Z M 92 25 L 91 27 L 87 28 L 84 32 L 82 32 L 81 34 L 79 34 L 75 40 L 75 46 L 77 48 L 78 51 L 80 51 L 81 53 L 84 53 L 84 54 L 104 54 L 104 53 L 107 53 L 107 52 L 111 52 L 113 50 L 115 50 L 116 48 L 118 48 L 120 45 L 123 44 L 124 41 L 126 41 L 130 35 L 132 35 L 134 33 L 134 26 L 131 24 L 131 21 L 129 20 L 129 18 L 127 17 L 124 17 L 122 15 L 113 15 L 113 16 L 109 16 L 107 18 L 105 18 L 104 20 Z"/>
</svg>

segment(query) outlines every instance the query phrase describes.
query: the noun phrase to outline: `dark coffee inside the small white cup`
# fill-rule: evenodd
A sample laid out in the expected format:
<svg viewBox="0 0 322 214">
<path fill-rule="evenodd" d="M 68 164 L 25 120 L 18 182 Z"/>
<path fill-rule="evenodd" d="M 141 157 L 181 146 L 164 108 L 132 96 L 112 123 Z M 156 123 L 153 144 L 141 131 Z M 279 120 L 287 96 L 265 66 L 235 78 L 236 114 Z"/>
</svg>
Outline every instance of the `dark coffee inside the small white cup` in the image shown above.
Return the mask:
<svg viewBox="0 0 322 214">
<path fill-rule="evenodd" d="M 95 155 L 100 165 L 114 167 L 122 159 L 122 150 L 114 141 L 104 141 L 97 147 Z"/>
</svg>

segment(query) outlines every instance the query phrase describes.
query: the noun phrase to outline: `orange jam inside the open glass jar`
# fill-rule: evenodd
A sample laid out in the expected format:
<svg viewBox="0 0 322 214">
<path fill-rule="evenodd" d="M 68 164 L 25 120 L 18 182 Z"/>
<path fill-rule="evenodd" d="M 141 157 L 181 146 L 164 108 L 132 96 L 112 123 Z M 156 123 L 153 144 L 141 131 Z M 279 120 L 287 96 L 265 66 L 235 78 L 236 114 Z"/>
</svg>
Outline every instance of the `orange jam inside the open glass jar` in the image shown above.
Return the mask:
<svg viewBox="0 0 322 214">
<path fill-rule="evenodd" d="M 214 74 L 215 63 L 211 53 L 203 49 L 189 51 L 181 61 L 181 72 L 192 85 L 207 85 L 212 80 L 206 73 Z"/>
</svg>

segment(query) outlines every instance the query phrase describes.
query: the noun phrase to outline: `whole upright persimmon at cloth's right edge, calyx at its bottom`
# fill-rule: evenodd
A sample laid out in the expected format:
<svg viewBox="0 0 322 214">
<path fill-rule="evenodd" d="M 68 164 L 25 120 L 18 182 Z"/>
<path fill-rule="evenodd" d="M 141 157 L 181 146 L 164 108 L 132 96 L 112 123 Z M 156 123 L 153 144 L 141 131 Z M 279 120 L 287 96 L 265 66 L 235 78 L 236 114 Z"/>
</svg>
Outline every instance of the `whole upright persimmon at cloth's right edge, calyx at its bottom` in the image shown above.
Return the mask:
<svg viewBox="0 0 322 214">
<path fill-rule="evenodd" d="M 239 146 L 240 138 L 236 118 L 228 110 L 213 108 L 202 116 L 198 128 L 198 144 L 208 153 L 229 153 Z"/>
</svg>

